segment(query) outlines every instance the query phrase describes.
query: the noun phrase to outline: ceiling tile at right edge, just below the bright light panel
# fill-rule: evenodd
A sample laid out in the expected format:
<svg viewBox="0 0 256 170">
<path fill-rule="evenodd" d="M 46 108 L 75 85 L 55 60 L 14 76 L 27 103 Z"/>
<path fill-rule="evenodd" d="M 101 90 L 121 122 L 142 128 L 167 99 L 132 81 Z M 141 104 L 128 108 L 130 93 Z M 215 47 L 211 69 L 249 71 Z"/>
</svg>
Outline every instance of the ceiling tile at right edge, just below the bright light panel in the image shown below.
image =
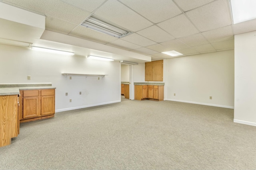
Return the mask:
<svg viewBox="0 0 256 170">
<path fill-rule="evenodd" d="M 232 29 L 234 31 L 234 35 L 255 31 L 256 19 L 233 24 Z"/>
</svg>

